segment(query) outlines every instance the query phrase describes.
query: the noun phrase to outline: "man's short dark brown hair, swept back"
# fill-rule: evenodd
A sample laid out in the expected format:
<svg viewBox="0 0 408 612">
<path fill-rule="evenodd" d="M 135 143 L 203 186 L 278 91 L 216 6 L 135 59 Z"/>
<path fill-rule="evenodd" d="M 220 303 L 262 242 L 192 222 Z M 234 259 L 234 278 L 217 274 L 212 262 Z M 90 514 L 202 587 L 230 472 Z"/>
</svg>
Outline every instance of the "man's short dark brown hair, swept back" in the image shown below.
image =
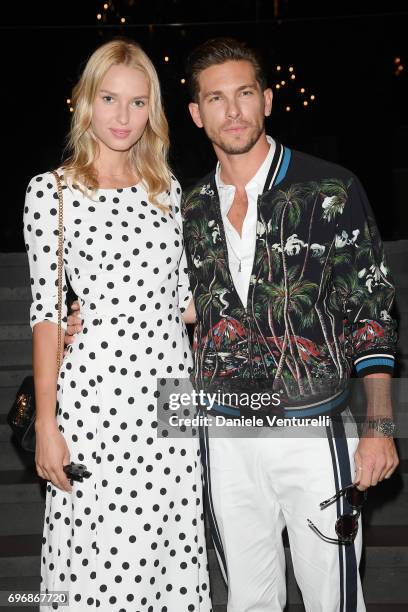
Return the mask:
<svg viewBox="0 0 408 612">
<path fill-rule="evenodd" d="M 187 59 L 186 73 L 191 99 L 194 102 L 198 102 L 198 95 L 200 93 L 198 77 L 203 70 L 210 66 L 240 60 L 245 60 L 252 64 L 255 78 L 261 90 L 264 91 L 267 87 L 267 81 L 262 61 L 257 51 L 235 38 L 221 37 L 206 40 L 196 47 Z"/>
</svg>

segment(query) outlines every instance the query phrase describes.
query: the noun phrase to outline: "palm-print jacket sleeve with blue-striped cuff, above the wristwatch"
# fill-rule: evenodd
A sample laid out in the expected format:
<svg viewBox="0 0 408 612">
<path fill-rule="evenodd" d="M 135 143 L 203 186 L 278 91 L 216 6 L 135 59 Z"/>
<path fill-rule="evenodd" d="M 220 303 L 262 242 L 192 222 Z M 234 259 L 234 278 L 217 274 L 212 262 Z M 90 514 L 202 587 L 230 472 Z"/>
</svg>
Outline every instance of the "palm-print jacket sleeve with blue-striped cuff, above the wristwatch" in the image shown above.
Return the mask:
<svg viewBox="0 0 408 612">
<path fill-rule="evenodd" d="M 343 289 L 352 365 L 359 377 L 377 372 L 392 375 L 397 342 L 396 323 L 391 317 L 395 288 L 371 206 L 356 177 L 351 180 L 338 225 L 340 264 L 335 266 L 335 274 Z"/>
</svg>

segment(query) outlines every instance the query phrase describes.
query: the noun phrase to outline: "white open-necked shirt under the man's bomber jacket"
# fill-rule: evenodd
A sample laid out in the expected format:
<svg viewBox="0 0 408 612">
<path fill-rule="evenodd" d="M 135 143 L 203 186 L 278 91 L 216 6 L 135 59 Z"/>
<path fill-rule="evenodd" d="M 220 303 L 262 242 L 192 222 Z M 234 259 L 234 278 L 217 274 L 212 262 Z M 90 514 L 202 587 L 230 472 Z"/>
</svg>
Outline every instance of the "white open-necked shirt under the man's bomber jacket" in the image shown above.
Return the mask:
<svg viewBox="0 0 408 612">
<path fill-rule="evenodd" d="M 229 268 L 241 302 L 246 307 L 248 299 L 249 281 L 255 256 L 256 245 L 256 223 L 258 219 L 257 200 L 262 194 L 266 177 L 275 154 L 276 144 L 270 137 L 266 137 L 269 143 L 269 152 L 262 165 L 258 168 L 255 176 L 245 185 L 248 198 L 248 210 L 242 224 L 241 236 L 229 221 L 227 215 L 232 206 L 235 196 L 234 185 L 225 185 L 220 176 L 220 163 L 215 171 L 215 182 L 220 198 L 221 216 L 224 223 L 225 237 L 228 247 Z"/>
</svg>

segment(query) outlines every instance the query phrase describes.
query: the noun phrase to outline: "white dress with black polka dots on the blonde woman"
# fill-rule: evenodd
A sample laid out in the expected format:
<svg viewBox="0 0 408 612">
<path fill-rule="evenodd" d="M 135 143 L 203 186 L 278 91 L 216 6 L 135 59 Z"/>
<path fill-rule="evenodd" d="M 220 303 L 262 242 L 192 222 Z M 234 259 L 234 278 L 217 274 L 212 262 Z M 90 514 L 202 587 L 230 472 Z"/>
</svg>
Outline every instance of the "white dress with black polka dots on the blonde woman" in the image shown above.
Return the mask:
<svg viewBox="0 0 408 612">
<path fill-rule="evenodd" d="M 41 590 L 68 591 L 67 611 L 209 612 L 198 443 L 156 435 L 157 378 L 191 367 L 180 187 L 173 178 L 167 214 L 140 184 L 63 195 L 65 271 L 84 328 L 61 367 L 57 419 L 71 461 L 92 476 L 72 494 L 48 483 Z M 34 177 L 32 326 L 57 321 L 57 209 L 52 174 Z"/>
</svg>

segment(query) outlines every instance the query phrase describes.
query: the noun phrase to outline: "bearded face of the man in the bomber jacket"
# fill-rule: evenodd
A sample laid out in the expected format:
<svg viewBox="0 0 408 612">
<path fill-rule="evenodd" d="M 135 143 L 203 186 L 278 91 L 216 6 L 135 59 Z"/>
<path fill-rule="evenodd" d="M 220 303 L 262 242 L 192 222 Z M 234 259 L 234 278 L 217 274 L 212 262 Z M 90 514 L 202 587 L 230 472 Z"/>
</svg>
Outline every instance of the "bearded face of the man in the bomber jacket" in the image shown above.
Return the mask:
<svg viewBox="0 0 408 612">
<path fill-rule="evenodd" d="M 228 155 L 247 153 L 264 132 L 272 107 L 272 91 L 261 91 L 252 64 L 246 60 L 210 66 L 198 77 L 199 100 L 189 110 L 214 148 Z"/>
</svg>

